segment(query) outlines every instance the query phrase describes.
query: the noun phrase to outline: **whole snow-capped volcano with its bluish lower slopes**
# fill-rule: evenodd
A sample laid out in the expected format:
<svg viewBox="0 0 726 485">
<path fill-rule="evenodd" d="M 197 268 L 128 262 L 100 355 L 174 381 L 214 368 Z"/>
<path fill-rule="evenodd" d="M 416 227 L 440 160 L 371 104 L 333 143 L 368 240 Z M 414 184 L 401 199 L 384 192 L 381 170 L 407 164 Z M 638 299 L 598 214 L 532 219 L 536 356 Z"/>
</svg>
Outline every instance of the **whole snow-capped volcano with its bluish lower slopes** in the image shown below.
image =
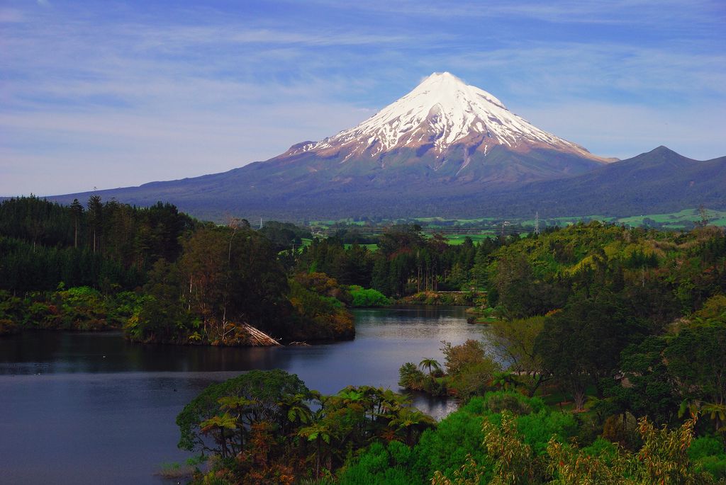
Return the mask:
<svg viewBox="0 0 726 485">
<path fill-rule="evenodd" d="M 518 194 L 531 197 L 534 183 L 601 173 L 609 161 L 540 130 L 492 94 L 443 72 L 355 128 L 322 141 L 303 141 L 229 172 L 104 196 L 134 204 L 168 200 L 203 217 L 470 215 L 476 207 L 507 215 L 514 202 L 522 203 Z M 612 186 L 603 182 L 606 175 L 595 180 Z M 587 187 L 592 191 L 592 184 Z M 557 191 L 550 211 L 567 191 Z M 500 200 L 502 194 L 509 199 Z"/>
</svg>

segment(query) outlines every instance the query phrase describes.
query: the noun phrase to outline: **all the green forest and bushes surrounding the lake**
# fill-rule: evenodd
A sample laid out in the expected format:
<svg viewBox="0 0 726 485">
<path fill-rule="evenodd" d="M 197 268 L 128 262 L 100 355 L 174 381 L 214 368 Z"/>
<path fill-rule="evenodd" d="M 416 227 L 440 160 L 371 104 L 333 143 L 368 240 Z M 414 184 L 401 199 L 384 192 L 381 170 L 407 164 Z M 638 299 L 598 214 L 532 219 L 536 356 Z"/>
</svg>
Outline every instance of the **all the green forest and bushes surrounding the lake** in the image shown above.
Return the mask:
<svg viewBox="0 0 726 485">
<path fill-rule="evenodd" d="M 310 236 L 202 223 L 168 204 L 11 199 L 0 204 L 0 331 L 243 345 L 248 323 L 344 339 L 351 307 L 464 295 L 482 339 L 443 342 L 443 362 L 422 355 L 399 371 L 407 393 L 459 410 L 437 423 L 390 389 L 325 396 L 282 370 L 245 373 L 177 418 L 179 447 L 200 454 L 192 481 L 726 483 L 723 228 L 592 221 L 451 245 L 401 225 L 375 251 Z"/>
</svg>

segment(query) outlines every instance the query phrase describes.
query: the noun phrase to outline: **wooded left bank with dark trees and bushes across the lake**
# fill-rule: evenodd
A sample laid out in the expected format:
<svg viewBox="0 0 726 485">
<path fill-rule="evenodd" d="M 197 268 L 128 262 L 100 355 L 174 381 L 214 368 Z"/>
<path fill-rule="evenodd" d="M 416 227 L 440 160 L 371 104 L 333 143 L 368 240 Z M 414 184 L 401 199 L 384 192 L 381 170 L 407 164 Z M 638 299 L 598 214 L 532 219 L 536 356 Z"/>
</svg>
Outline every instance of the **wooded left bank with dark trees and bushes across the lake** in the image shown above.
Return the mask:
<svg viewBox="0 0 726 485">
<path fill-rule="evenodd" d="M 283 340 L 351 338 L 351 294 L 326 275 L 285 270 L 278 252 L 300 237 L 285 224 L 200 223 L 170 204 L 9 199 L 0 333 L 123 328 L 133 341 L 245 345 L 256 343 L 250 325 Z"/>
</svg>

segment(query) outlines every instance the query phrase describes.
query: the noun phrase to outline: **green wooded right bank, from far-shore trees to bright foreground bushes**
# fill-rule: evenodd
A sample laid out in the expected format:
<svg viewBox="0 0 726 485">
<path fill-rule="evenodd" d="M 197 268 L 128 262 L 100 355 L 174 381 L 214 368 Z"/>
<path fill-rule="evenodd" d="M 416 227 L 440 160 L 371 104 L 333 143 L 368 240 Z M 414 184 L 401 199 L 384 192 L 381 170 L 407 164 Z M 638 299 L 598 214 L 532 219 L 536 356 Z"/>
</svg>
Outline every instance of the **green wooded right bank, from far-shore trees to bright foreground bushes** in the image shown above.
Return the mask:
<svg viewBox="0 0 726 485">
<path fill-rule="evenodd" d="M 389 295 L 451 284 L 456 273 L 462 287 L 488 290 L 481 310 L 496 316 L 485 341 L 444 343 L 442 364 L 422 356 L 401 367 L 401 386 L 468 404 L 415 444 L 364 444 L 320 484 L 726 478 L 722 230 L 588 223 L 454 247 L 409 226 L 375 253 L 314 241 L 297 264 L 348 282 L 370 274 Z"/>
</svg>

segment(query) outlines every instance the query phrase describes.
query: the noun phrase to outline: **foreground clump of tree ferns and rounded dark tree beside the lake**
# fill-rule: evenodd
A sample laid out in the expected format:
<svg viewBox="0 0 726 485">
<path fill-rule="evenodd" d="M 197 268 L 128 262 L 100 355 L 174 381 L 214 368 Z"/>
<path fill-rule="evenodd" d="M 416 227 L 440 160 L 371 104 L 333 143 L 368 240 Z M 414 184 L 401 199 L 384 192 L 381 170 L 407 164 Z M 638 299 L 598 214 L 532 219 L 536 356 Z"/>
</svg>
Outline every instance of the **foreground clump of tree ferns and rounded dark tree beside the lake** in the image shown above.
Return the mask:
<svg viewBox="0 0 726 485">
<path fill-rule="evenodd" d="M 410 404 L 369 386 L 322 396 L 282 370 L 253 370 L 184 407 L 179 447 L 213 453 L 203 483 L 293 484 L 329 474 L 371 443 L 417 442 L 434 422 Z"/>
</svg>

